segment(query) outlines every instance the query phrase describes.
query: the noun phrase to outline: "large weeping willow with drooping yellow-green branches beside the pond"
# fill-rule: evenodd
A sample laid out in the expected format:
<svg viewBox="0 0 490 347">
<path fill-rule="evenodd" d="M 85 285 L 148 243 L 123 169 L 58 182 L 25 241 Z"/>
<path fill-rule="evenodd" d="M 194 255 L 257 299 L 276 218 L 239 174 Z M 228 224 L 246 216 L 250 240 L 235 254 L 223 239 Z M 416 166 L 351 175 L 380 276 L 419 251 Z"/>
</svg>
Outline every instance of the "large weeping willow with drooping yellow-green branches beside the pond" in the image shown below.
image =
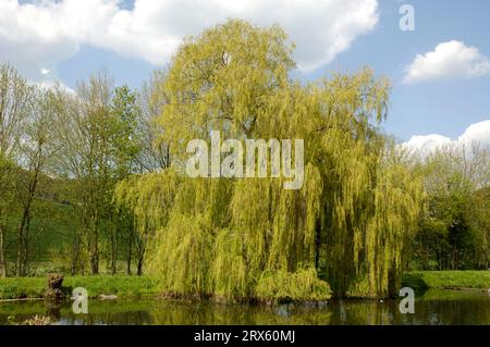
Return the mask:
<svg viewBox="0 0 490 347">
<path fill-rule="evenodd" d="M 176 296 L 323 300 L 399 287 L 422 198 L 417 173 L 380 132 L 389 83 L 369 69 L 303 85 L 278 26 L 228 21 L 184 41 L 159 92 L 173 166 L 121 183 L 151 238 L 149 271 Z M 156 96 L 159 97 L 159 96 Z M 301 189 L 284 178 L 189 178 L 187 141 L 304 139 Z M 270 171 L 270 165 L 268 168 Z"/>
</svg>

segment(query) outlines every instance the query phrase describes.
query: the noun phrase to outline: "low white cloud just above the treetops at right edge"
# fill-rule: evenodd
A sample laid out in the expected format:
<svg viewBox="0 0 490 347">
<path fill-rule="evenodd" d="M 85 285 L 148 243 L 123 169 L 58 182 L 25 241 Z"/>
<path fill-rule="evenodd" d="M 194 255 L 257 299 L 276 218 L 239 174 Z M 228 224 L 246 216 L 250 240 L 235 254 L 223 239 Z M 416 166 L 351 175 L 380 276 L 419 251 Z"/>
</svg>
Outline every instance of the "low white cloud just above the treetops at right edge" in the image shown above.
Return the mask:
<svg viewBox="0 0 490 347">
<path fill-rule="evenodd" d="M 476 144 L 490 149 L 490 120 L 471 124 L 463 135 L 455 139 L 437 134 L 417 135 L 402 146 L 421 154 L 428 154 L 444 146 L 470 148 Z"/>
</svg>

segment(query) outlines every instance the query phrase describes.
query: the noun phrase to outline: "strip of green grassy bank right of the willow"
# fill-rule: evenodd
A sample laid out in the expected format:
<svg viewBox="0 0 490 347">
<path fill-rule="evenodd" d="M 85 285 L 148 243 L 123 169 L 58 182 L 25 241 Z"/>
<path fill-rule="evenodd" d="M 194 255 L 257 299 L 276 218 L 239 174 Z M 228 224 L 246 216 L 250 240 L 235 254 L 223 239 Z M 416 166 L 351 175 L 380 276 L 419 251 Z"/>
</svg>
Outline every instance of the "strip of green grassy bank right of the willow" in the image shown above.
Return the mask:
<svg viewBox="0 0 490 347">
<path fill-rule="evenodd" d="M 414 289 L 490 288 L 490 271 L 413 271 L 403 275 L 402 286 Z"/>
</svg>

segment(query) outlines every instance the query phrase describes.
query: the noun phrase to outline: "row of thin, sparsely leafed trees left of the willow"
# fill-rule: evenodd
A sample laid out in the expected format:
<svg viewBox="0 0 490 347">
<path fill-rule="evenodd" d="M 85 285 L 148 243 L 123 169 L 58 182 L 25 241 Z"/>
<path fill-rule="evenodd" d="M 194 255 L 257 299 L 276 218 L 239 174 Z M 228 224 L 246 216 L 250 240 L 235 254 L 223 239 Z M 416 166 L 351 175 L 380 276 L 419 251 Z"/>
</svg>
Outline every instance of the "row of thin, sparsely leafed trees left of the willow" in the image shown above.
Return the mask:
<svg viewBox="0 0 490 347">
<path fill-rule="evenodd" d="M 130 175 L 170 163 L 167 149 L 154 145 L 151 120 L 160 106 L 151 95 L 159 78 L 156 72 L 138 92 L 115 87 L 102 72 L 73 92 L 37 87 L 12 65 L 0 66 L 0 276 L 8 274 L 9 256 L 13 273 L 28 273 L 33 218 L 57 219 L 42 210 L 45 200 L 70 206 L 78 221 L 65 235 L 71 273 L 85 262 L 99 273 L 101 247 L 111 273 L 120 258 L 128 273 L 133 262 L 142 273 L 146 240 L 112 193 Z"/>
</svg>

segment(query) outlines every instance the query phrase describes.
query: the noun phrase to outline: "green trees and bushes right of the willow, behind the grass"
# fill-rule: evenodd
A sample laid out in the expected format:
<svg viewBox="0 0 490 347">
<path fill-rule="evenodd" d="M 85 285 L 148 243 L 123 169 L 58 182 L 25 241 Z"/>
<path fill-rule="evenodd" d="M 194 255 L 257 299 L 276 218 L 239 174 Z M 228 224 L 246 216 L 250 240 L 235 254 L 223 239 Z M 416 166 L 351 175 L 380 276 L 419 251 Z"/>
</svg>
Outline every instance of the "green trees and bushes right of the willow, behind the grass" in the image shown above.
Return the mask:
<svg viewBox="0 0 490 347">
<path fill-rule="evenodd" d="M 490 152 L 441 148 L 422 161 L 427 194 L 414 250 L 418 269 L 490 265 Z"/>
</svg>

